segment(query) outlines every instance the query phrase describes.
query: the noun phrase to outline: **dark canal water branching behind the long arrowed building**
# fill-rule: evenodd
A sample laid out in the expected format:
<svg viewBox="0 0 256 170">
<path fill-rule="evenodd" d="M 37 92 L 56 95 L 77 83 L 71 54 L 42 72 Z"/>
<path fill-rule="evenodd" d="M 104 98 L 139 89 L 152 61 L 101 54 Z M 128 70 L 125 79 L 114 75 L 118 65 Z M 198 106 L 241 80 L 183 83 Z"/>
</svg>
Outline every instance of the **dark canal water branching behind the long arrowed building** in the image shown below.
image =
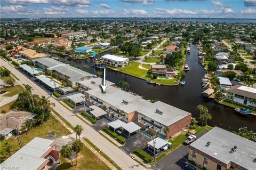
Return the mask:
<svg viewBox="0 0 256 170">
<path fill-rule="evenodd" d="M 109 52 L 101 53 L 105 55 Z M 64 56 L 59 56 L 60 60 L 66 60 L 68 63 L 73 64 L 84 70 L 84 65 L 90 66 L 89 72 L 95 74 L 97 71 L 91 65 L 92 59 L 73 60 Z M 142 95 L 144 99 L 158 99 L 168 103 L 174 107 L 186 110 L 192 114 L 192 117 L 197 118 L 199 111 L 196 110 L 198 104 L 209 109 L 212 119 L 208 121 L 210 126 L 218 126 L 230 131 L 238 131 L 240 127 L 247 127 L 249 130 L 256 131 L 256 117 L 255 116 L 242 116 L 238 115 L 234 109 L 222 106 L 214 102 L 212 99 L 203 99 L 201 90 L 201 79 L 205 75 L 205 71 L 201 64 L 198 63 L 197 49 L 192 45 L 191 52 L 187 56 L 186 63 L 189 64 L 190 70 L 187 71 L 185 85 L 178 86 L 160 86 L 152 85 L 145 82 L 145 80 L 125 75 L 121 72 L 106 70 L 106 79 L 118 83 L 119 80 L 128 82 L 131 92 Z"/>
</svg>

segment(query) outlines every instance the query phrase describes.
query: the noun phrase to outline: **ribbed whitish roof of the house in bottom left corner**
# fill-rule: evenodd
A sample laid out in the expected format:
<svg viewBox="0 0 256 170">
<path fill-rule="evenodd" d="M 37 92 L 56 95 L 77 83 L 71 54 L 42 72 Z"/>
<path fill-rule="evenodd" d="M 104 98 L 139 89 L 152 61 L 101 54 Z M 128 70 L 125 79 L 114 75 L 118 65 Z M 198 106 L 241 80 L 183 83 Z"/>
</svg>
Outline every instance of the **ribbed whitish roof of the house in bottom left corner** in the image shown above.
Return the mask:
<svg viewBox="0 0 256 170">
<path fill-rule="evenodd" d="M 6 159 L 0 167 L 15 167 L 17 169 L 37 169 L 49 160 L 41 158 L 52 148 L 54 141 L 35 137 L 11 157 Z"/>
</svg>

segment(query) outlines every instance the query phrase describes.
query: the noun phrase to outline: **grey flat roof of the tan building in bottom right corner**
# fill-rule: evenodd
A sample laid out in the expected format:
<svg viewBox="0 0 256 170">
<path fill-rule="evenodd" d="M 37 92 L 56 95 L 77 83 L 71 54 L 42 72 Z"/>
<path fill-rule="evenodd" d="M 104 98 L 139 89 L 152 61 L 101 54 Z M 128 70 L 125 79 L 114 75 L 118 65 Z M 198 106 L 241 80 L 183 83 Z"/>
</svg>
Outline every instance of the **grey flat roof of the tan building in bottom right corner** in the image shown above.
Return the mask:
<svg viewBox="0 0 256 170">
<path fill-rule="evenodd" d="M 210 145 L 207 145 L 207 142 L 210 142 Z M 235 145 L 237 150 L 232 152 L 231 148 Z M 255 169 L 256 167 L 256 143 L 219 127 L 214 127 L 191 143 L 190 147 L 225 164 L 229 164 L 231 161 L 245 169 Z"/>
</svg>

